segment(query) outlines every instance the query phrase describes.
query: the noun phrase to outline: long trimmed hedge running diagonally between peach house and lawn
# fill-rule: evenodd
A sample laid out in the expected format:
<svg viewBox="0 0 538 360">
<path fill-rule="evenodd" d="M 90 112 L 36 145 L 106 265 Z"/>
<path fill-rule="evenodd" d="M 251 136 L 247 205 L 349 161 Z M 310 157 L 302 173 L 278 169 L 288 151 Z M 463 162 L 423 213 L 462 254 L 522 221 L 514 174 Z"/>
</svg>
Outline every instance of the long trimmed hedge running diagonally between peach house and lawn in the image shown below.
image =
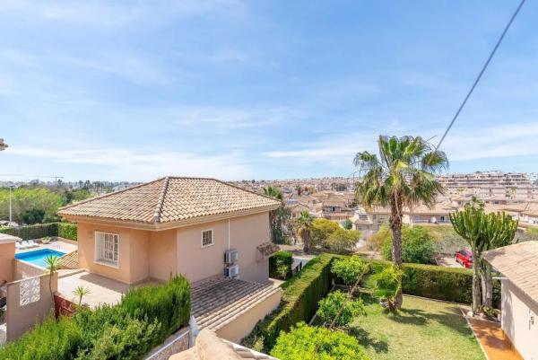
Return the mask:
<svg viewBox="0 0 538 360">
<path fill-rule="evenodd" d="M 249 338 L 263 338 L 264 349 L 273 348 L 281 331 L 288 331 L 300 321 L 310 320 L 317 303 L 332 285 L 331 265 L 336 256 L 322 254 L 308 261 L 299 273 L 282 284 L 282 303 L 259 323 Z"/>
</svg>

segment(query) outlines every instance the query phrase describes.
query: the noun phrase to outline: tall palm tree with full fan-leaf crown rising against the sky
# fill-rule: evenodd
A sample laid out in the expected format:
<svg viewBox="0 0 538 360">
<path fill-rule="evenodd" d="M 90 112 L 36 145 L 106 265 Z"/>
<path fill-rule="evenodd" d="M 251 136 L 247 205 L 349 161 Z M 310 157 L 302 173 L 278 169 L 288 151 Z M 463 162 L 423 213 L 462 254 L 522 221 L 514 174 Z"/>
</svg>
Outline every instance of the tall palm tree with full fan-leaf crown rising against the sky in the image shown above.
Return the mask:
<svg viewBox="0 0 538 360">
<path fill-rule="evenodd" d="M 404 206 L 432 206 L 443 192 L 436 174 L 447 169 L 444 152 L 437 151 L 421 136 L 379 136 L 379 157 L 365 151 L 357 153 L 353 163 L 362 171 L 355 189 L 361 204 L 390 206 L 389 224 L 392 231 L 392 258 L 402 265 L 402 217 Z M 401 286 L 400 286 L 401 287 Z M 401 291 L 396 306 L 403 303 Z"/>
</svg>

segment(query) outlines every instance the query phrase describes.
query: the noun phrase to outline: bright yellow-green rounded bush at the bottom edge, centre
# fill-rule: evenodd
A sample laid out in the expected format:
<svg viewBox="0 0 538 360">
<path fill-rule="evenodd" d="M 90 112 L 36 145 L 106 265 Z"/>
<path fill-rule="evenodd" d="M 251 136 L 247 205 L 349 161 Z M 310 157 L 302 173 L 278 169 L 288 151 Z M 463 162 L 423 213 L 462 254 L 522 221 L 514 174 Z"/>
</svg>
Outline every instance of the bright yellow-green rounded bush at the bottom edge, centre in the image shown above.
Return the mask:
<svg viewBox="0 0 538 360">
<path fill-rule="evenodd" d="M 304 323 L 282 333 L 271 356 L 281 360 L 369 360 L 356 338 Z"/>
</svg>

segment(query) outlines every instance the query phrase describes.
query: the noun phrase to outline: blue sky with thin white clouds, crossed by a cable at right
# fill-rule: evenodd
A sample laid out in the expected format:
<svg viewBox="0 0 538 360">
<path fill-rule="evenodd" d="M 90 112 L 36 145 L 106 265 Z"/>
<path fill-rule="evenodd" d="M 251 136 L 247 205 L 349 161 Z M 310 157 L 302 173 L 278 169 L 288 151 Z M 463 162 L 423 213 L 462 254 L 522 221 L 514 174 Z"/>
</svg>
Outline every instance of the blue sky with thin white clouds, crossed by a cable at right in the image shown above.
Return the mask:
<svg viewBox="0 0 538 360">
<path fill-rule="evenodd" d="M 347 176 L 437 136 L 518 1 L 0 0 L 0 180 Z M 538 3 L 443 150 L 538 171 Z"/>
</svg>

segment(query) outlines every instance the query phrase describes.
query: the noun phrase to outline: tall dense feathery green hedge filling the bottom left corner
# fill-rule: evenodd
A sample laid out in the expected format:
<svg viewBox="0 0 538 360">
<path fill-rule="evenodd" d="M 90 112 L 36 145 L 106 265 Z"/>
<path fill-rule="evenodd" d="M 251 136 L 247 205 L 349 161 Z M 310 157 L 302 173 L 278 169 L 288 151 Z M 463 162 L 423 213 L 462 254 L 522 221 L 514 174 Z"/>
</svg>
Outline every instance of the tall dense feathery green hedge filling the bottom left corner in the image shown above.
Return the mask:
<svg viewBox="0 0 538 360">
<path fill-rule="evenodd" d="M 185 277 L 137 288 L 121 303 L 79 309 L 60 320 L 53 316 L 22 338 L 0 348 L 5 360 L 142 359 L 190 317 L 190 287 Z"/>
</svg>

